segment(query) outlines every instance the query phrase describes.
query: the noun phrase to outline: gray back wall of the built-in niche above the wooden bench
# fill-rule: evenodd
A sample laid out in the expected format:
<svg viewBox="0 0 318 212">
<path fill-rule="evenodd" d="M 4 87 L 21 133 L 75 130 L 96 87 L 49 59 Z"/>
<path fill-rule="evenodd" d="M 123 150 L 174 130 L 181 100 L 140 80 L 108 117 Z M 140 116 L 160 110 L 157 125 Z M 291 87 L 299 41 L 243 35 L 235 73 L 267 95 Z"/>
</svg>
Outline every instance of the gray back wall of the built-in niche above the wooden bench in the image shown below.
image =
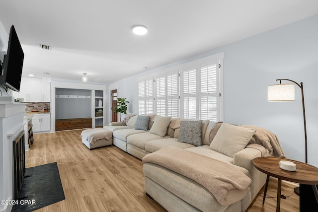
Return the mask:
<svg viewBox="0 0 318 212">
<path fill-rule="evenodd" d="M 56 88 L 56 94 L 87 95 L 90 98 L 56 98 L 55 119 L 76 119 L 91 117 L 91 90 Z"/>
</svg>

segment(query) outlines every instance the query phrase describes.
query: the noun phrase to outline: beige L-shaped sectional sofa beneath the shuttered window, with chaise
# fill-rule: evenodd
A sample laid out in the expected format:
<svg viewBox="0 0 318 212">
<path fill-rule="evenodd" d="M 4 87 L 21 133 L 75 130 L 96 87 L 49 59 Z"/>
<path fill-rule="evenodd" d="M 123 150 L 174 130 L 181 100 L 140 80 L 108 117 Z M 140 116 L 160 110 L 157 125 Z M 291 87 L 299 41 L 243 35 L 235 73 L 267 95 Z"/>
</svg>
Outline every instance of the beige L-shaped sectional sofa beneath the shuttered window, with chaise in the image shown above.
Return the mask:
<svg viewBox="0 0 318 212">
<path fill-rule="evenodd" d="M 116 122 L 105 126 L 104 129 L 113 132 L 114 145 L 139 159 L 144 158 L 145 191 L 167 211 L 246 211 L 266 181 L 266 175 L 254 168 L 252 159 L 260 156 L 284 157 L 276 136 L 255 126 L 235 126 L 227 123 L 201 121 L 199 124 L 201 132 L 198 134 L 201 141 L 199 144 L 193 144 L 188 142 L 187 138 L 184 139 L 184 135 L 190 133 L 187 136 L 191 137 L 191 131 L 195 130 L 191 129 L 191 124 L 196 123 L 195 125 L 198 126 L 197 122 L 168 118 L 168 125 L 164 125 L 165 133 L 162 135 L 162 132 L 158 130 L 158 123 L 161 123 L 164 118 L 167 119 L 166 117 L 151 114 L 148 128 L 135 130 L 138 117 L 137 115 L 131 117 L 127 126 Z M 190 128 L 186 130 L 185 127 L 182 128 L 185 123 L 188 124 L 188 127 L 190 125 Z M 161 130 L 164 127 L 161 126 Z M 240 138 L 241 135 L 236 132 L 237 130 L 239 130 L 238 132 L 244 131 L 241 134 L 248 135 Z M 198 129 L 196 129 L 196 133 L 198 133 Z M 182 142 L 180 142 L 181 137 Z M 239 141 L 241 139 L 245 141 Z M 198 142 L 198 139 L 196 140 Z M 230 201 L 228 205 L 220 204 L 219 199 L 215 198 L 216 195 L 213 195 L 200 183 L 186 177 L 187 173 L 182 174 L 167 168 L 168 166 L 148 160 L 152 156 L 157 156 L 157 153 L 158 155 L 161 152 L 164 153 L 166 147 L 174 148 L 175 155 L 182 150 L 185 154 L 190 155 L 191 152 L 194 152 L 195 155 L 203 155 L 203 158 L 209 160 L 212 158 L 222 161 L 226 163 L 225 165 L 229 164 L 231 167 L 235 167 L 237 172 L 247 176 L 251 183 L 244 188 L 245 193 L 238 201 Z M 202 164 L 202 161 L 200 163 Z M 207 164 L 206 167 L 209 166 Z"/>
</svg>

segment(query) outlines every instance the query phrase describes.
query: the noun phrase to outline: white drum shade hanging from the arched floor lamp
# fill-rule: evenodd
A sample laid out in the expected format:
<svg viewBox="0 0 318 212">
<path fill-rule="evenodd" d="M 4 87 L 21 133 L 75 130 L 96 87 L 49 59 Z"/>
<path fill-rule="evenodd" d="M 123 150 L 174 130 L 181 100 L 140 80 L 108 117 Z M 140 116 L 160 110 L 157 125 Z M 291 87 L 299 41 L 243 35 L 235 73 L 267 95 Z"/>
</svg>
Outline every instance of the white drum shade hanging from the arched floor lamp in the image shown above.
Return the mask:
<svg viewBox="0 0 318 212">
<path fill-rule="evenodd" d="M 275 84 L 267 87 L 267 101 L 295 101 L 295 84 Z"/>
</svg>

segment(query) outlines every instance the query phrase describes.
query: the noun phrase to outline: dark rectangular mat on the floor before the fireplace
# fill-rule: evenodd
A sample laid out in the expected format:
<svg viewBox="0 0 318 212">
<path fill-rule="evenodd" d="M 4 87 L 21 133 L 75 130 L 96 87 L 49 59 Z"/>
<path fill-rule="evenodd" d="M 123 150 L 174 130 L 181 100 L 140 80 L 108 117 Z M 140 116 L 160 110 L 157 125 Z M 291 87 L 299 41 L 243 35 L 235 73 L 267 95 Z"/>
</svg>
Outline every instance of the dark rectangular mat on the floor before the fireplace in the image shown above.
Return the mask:
<svg viewBox="0 0 318 212">
<path fill-rule="evenodd" d="M 61 200 L 65 196 L 57 163 L 30 167 L 12 212 L 31 212 Z"/>
</svg>

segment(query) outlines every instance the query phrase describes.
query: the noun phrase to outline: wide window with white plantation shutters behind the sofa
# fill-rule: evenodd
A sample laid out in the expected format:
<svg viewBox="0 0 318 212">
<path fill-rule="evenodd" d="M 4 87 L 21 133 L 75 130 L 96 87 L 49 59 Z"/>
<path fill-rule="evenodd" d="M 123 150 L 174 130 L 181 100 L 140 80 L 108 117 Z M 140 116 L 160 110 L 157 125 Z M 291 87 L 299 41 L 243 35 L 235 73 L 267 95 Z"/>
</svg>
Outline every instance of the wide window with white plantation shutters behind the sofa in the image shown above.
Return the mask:
<svg viewBox="0 0 318 212">
<path fill-rule="evenodd" d="M 219 53 L 139 81 L 139 113 L 223 121 L 223 59 Z"/>
</svg>

